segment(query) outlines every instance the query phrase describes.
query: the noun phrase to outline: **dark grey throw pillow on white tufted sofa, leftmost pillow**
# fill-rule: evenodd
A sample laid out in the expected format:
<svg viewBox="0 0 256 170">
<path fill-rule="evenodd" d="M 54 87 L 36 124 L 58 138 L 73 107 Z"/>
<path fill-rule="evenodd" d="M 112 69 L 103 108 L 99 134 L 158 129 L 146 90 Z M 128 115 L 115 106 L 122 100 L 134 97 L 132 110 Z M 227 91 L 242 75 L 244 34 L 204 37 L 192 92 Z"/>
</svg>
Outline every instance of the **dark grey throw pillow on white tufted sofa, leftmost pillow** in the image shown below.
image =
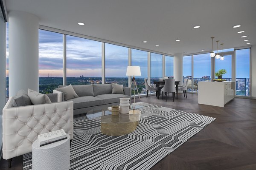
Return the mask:
<svg viewBox="0 0 256 170">
<path fill-rule="evenodd" d="M 20 90 L 17 92 L 15 98 L 12 101 L 13 107 L 19 107 L 19 106 L 27 106 L 32 105 L 31 100 L 29 99 L 29 96 L 26 94 L 25 91 Z"/>
</svg>

